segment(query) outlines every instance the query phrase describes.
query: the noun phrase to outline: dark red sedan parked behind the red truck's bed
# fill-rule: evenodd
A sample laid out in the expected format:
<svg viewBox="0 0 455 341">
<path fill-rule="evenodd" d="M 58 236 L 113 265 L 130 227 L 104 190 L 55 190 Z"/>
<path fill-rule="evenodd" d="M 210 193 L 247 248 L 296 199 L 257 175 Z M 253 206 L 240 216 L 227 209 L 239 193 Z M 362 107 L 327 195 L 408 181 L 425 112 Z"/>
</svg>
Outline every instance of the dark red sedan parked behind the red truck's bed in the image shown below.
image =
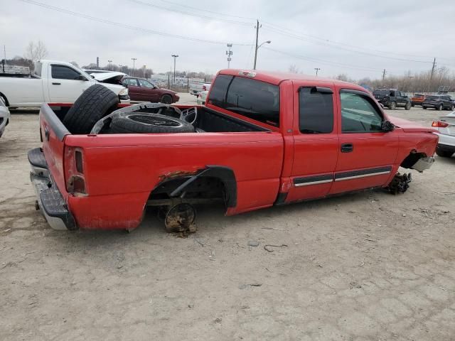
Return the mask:
<svg viewBox="0 0 455 341">
<path fill-rule="evenodd" d="M 98 78 L 98 76 L 96 77 Z M 143 78 L 124 76 L 121 82 L 124 87 L 128 88 L 132 101 L 172 104 L 180 99 L 177 92 L 157 87 Z"/>
</svg>

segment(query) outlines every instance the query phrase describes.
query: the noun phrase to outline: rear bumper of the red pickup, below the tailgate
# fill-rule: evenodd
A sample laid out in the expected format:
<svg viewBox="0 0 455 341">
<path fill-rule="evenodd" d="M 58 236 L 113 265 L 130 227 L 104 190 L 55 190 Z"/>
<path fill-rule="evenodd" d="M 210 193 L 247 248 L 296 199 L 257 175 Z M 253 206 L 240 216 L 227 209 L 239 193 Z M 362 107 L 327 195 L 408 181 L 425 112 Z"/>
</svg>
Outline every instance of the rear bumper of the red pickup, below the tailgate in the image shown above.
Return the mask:
<svg viewBox="0 0 455 341">
<path fill-rule="evenodd" d="M 30 179 L 35 189 L 38 205 L 50 227 L 53 229 L 77 229 L 74 217 L 53 182 L 41 148 L 28 151 L 31 166 Z"/>
</svg>

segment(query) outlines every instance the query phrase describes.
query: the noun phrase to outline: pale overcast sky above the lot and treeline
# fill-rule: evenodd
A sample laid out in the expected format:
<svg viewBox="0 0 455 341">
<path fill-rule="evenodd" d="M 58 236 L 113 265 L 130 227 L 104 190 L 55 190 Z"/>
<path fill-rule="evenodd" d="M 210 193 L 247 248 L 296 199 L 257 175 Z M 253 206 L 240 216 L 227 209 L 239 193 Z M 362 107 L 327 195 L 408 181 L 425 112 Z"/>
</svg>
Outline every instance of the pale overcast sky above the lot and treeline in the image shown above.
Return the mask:
<svg viewBox="0 0 455 341">
<path fill-rule="evenodd" d="M 378 78 L 384 68 L 390 75 L 430 70 L 434 57 L 437 67 L 455 70 L 453 0 L 439 0 L 437 6 L 422 0 L 31 2 L 77 16 L 21 0 L 0 0 L 0 44 L 6 45 L 6 58 L 22 56 L 29 41 L 42 40 L 49 59 L 79 65 L 95 63 L 98 56 L 100 65 L 110 59 L 132 66 L 134 57 L 136 66 L 158 73 L 170 70 L 171 55 L 177 54 L 177 70 L 216 72 L 228 66 L 226 43 L 233 43 L 230 66 L 252 68 L 251 44 L 259 18 L 259 43 L 272 40 L 259 48 L 259 70 L 287 71 L 296 65 L 307 74 L 319 67 L 319 75 L 328 77 L 346 73 L 355 79 Z"/>
</svg>

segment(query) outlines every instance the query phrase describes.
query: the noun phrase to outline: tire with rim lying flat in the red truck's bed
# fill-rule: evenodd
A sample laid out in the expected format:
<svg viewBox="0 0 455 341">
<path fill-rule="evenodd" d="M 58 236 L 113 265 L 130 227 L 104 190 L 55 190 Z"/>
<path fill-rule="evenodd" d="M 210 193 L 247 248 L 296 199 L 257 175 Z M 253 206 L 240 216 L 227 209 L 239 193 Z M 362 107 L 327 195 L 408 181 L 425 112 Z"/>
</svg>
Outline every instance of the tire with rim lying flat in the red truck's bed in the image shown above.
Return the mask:
<svg viewBox="0 0 455 341">
<path fill-rule="evenodd" d="M 109 133 L 193 133 L 194 131 L 194 126 L 182 119 L 160 114 L 132 112 L 112 117 Z"/>
</svg>

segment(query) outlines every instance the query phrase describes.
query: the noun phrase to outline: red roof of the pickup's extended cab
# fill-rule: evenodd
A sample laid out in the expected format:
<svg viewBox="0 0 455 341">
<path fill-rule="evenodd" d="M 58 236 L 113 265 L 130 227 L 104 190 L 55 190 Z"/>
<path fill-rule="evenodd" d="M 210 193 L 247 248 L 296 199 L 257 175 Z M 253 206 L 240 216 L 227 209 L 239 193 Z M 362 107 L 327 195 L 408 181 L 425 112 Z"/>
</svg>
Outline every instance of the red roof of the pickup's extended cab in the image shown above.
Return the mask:
<svg viewBox="0 0 455 341">
<path fill-rule="evenodd" d="M 218 72 L 221 75 L 233 75 L 250 77 L 255 80 L 262 80 L 263 82 L 279 85 L 284 80 L 306 80 L 310 82 L 331 82 L 338 85 L 349 85 L 351 88 L 358 88 L 358 90 L 364 91 L 360 85 L 355 85 L 350 82 L 343 82 L 342 80 L 333 80 L 331 78 L 303 75 L 301 73 L 289 73 L 289 72 L 274 72 L 274 71 L 262 71 L 262 70 L 244 70 L 244 69 L 224 69 Z"/>
</svg>

